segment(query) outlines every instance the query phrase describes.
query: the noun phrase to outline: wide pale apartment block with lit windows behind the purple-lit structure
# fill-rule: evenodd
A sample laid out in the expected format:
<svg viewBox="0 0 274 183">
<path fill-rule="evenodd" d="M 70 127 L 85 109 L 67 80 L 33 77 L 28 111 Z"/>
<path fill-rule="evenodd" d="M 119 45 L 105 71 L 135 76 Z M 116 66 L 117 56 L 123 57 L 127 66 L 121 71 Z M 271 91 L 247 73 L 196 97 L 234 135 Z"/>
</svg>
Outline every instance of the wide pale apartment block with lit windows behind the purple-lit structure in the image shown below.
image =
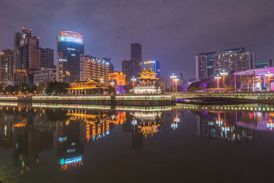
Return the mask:
<svg viewBox="0 0 274 183">
<path fill-rule="evenodd" d="M 214 56 L 214 75 L 226 72 L 238 72 L 255 69 L 255 53 L 241 52 L 219 53 Z"/>
</svg>

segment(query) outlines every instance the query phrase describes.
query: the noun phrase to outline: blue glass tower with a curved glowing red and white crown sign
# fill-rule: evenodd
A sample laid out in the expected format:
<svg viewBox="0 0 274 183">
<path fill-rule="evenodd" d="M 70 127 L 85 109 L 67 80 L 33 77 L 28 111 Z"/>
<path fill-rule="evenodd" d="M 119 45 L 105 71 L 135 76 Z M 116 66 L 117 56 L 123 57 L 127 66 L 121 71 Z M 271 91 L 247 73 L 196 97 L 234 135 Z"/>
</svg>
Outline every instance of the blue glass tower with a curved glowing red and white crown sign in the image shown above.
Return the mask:
<svg viewBox="0 0 274 183">
<path fill-rule="evenodd" d="M 59 31 L 57 41 L 57 81 L 80 81 L 80 70 L 85 65 L 83 35 L 72 31 Z M 81 68 L 80 68 L 81 65 Z"/>
</svg>

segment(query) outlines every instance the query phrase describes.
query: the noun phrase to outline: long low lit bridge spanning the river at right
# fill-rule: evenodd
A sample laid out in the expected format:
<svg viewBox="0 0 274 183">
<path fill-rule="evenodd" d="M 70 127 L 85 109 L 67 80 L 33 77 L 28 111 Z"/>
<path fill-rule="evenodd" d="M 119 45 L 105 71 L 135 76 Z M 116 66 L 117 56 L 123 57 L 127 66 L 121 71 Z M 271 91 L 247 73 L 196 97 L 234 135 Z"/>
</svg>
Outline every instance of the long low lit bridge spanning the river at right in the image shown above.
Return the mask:
<svg viewBox="0 0 274 183">
<path fill-rule="evenodd" d="M 274 100 L 274 93 L 171 93 L 173 100 L 176 99 L 195 99 L 195 98 L 224 98 L 239 100 Z"/>
</svg>

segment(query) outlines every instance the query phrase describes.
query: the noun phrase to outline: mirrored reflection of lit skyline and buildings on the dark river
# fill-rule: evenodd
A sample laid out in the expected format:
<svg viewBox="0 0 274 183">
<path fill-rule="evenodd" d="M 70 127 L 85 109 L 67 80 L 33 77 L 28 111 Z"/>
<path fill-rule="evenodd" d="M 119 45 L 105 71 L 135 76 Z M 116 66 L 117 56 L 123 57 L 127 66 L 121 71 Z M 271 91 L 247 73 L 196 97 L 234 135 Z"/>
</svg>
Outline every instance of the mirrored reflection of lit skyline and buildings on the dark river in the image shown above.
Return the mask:
<svg viewBox="0 0 274 183">
<path fill-rule="evenodd" d="M 139 152 L 146 145 L 145 138 L 153 138 L 161 131 L 178 131 L 189 112 L 194 113 L 196 118 L 191 123 L 196 122 L 197 134 L 204 139 L 246 143 L 257 138 L 258 131 L 274 130 L 274 113 L 268 106 L 73 107 L 0 103 L 0 149 L 12 149 L 16 175 L 32 171 L 34 164 L 41 163 L 41 151 L 54 149 L 58 169 L 71 171 L 87 163 L 85 145 L 110 137 L 116 126 L 131 135 L 131 148 Z"/>
</svg>

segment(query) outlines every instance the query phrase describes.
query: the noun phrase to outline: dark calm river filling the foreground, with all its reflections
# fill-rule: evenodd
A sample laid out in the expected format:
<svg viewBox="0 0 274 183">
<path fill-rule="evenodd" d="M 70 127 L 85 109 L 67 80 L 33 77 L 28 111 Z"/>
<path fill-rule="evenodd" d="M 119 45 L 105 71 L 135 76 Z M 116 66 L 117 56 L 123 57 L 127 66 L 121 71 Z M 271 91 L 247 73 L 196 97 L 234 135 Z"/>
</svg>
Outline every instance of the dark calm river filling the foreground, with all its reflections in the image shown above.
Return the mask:
<svg viewBox="0 0 274 183">
<path fill-rule="evenodd" d="M 272 106 L 0 106 L 0 182 L 273 182 Z"/>
</svg>

